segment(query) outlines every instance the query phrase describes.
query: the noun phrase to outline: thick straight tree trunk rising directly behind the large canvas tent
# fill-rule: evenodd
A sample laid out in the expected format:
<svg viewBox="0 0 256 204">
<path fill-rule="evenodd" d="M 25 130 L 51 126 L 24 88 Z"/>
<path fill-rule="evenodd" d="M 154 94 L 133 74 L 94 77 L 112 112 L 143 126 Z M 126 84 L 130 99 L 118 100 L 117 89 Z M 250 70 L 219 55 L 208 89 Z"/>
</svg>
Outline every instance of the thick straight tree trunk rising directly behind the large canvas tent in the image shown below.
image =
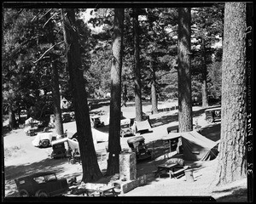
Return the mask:
<svg viewBox="0 0 256 204">
<path fill-rule="evenodd" d="M 193 130 L 191 71 L 190 71 L 190 21 L 191 8 L 178 8 L 178 128 L 179 132 Z"/>
</svg>

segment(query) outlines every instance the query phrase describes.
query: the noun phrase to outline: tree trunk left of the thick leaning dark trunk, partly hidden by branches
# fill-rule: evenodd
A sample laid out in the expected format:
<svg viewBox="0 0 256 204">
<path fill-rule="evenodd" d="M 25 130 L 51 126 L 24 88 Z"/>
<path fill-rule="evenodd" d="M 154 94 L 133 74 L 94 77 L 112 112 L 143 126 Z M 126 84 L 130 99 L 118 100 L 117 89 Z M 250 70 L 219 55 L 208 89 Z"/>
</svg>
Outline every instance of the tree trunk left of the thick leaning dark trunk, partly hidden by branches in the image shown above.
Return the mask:
<svg viewBox="0 0 256 204">
<path fill-rule="evenodd" d="M 51 17 L 50 12 L 46 15 L 47 20 Z M 55 44 L 55 37 L 54 37 L 54 26 L 53 22 L 49 20 L 48 23 L 48 38 L 50 47 Z M 55 59 L 55 54 L 53 52 L 50 53 L 49 56 L 50 60 L 50 68 L 51 68 L 51 88 L 52 88 L 52 99 L 54 105 L 54 114 L 55 114 L 55 132 L 58 135 L 63 134 L 63 124 L 62 124 L 62 117 L 61 117 L 61 96 L 60 96 L 60 89 L 59 89 L 59 71 L 57 68 L 57 62 Z"/>
</svg>

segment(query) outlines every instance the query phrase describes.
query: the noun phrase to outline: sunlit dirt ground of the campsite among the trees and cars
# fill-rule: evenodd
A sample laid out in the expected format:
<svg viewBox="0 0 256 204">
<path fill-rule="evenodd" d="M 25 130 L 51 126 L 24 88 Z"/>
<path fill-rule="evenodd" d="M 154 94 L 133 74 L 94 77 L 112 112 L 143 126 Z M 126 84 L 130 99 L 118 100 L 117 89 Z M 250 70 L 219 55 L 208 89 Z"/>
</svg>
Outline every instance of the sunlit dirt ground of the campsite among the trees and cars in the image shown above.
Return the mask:
<svg viewBox="0 0 256 204">
<path fill-rule="evenodd" d="M 164 105 L 159 105 L 159 109 Z M 151 105 L 143 105 L 143 112 L 150 112 Z M 105 111 L 106 115 L 102 116 L 102 121 L 108 125 L 108 106 L 98 108 L 97 111 Z M 125 117 L 133 117 L 135 107 L 128 105 L 122 107 Z M 201 126 L 201 134 L 213 141 L 217 141 L 220 135 L 220 122 L 208 124 L 205 121 L 204 109 L 201 107 L 193 107 L 195 124 Z M 175 111 L 160 111 L 158 114 L 150 115 L 152 124 L 152 133 L 143 133 L 145 143 L 154 151 L 154 159 L 137 163 L 137 177 L 143 174 L 148 174 L 148 182 L 143 186 L 139 186 L 128 193 L 119 196 L 212 196 L 216 201 L 226 202 L 243 202 L 247 201 L 247 179 L 236 181 L 232 184 L 216 187 L 214 178 L 216 176 L 216 168 L 218 157 L 212 161 L 185 161 L 185 165 L 190 165 L 193 168 L 193 176 L 195 182 L 186 181 L 186 177 L 181 178 L 154 178 L 150 176 L 152 171 L 156 170 L 158 164 L 166 161 L 165 154 L 168 149 L 164 148 L 160 138 L 166 135 L 166 127 L 177 125 L 177 110 Z M 64 129 L 69 132 L 75 132 L 75 122 L 64 123 Z M 101 128 L 98 129 L 101 131 Z M 102 133 L 106 132 L 102 128 Z M 29 175 L 38 171 L 55 171 L 58 177 L 67 179 L 77 176 L 81 179 L 82 168 L 79 163 L 71 164 L 67 159 L 51 159 L 49 157 L 52 148 L 38 148 L 32 145 L 32 140 L 35 136 L 26 136 L 22 128 L 6 133 L 3 137 L 4 146 L 4 177 L 5 177 L 5 195 L 6 197 L 18 196 L 18 191 L 15 185 L 15 178 L 24 175 Z M 127 139 L 131 137 L 121 138 L 122 147 L 127 146 Z M 106 172 L 107 160 L 105 149 L 106 143 L 96 144 L 96 153 L 98 156 L 99 167 L 102 173 Z"/>
</svg>

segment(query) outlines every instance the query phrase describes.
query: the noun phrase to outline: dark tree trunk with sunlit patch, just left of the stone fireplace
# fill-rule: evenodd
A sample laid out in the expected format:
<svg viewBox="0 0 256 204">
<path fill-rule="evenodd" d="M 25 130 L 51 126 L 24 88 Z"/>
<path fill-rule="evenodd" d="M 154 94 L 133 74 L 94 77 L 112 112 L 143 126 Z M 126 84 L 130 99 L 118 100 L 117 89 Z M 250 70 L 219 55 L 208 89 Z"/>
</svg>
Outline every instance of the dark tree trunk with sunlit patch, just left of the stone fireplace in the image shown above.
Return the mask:
<svg viewBox="0 0 256 204">
<path fill-rule="evenodd" d="M 114 8 L 107 175 L 119 173 L 124 8 Z"/>
</svg>

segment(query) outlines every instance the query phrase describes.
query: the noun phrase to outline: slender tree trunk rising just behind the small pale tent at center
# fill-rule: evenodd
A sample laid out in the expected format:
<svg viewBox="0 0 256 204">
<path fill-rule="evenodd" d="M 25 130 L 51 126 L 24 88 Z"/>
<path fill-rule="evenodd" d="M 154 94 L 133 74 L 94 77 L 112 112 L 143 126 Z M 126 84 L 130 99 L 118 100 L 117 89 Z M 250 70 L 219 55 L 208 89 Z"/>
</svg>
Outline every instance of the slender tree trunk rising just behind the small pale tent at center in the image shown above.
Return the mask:
<svg viewBox="0 0 256 204">
<path fill-rule="evenodd" d="M 142 82 L 140 69 L 140 54 L 139 54 L 139 22 L 138 10 L 133 8 L 133 32 L 134 32 L 134 74 L 135 74 L 135 110 L 136 121 L 143 121 L 143 103 L 142 103 Z"/>
</svg>

